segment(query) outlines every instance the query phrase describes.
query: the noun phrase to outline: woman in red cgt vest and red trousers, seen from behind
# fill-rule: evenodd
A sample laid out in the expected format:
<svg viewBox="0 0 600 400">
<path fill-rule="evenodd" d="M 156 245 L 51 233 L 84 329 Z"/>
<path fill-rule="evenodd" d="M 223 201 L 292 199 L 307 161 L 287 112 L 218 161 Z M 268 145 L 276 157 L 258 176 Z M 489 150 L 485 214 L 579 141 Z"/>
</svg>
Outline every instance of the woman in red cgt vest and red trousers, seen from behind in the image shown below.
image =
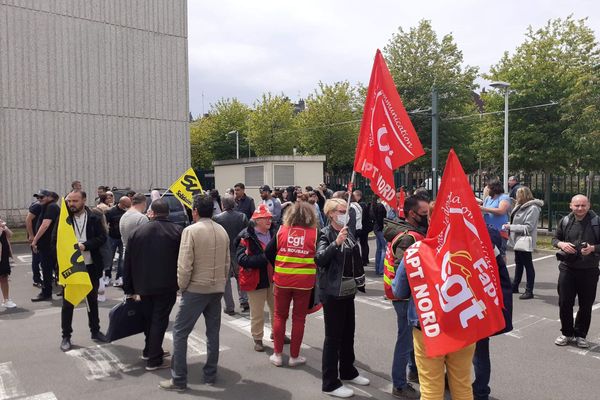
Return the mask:
<svg viewBox="0 0 600 400">
<path fill-rule="evenodd" d="M 269 360 L 278 367 L 283 365 L 281 353 L 285 338 L 285 323 L 292 301 L 294 302 L 292 340 L 288 364 L 290 367 L 295 367 L 306 363 L 306 359 L 300 356 L 300 345 L 304 336 L 304 323 L 311 293 L 316 281 L 317 267 L 314 259 L 316 247 L 315 210 L 307 202 L 296 202 L 285 214 L 283 225 L 266 249 L 267 258 L 271 258 L 275 265 L 274 348 Z"/>
</svg>

